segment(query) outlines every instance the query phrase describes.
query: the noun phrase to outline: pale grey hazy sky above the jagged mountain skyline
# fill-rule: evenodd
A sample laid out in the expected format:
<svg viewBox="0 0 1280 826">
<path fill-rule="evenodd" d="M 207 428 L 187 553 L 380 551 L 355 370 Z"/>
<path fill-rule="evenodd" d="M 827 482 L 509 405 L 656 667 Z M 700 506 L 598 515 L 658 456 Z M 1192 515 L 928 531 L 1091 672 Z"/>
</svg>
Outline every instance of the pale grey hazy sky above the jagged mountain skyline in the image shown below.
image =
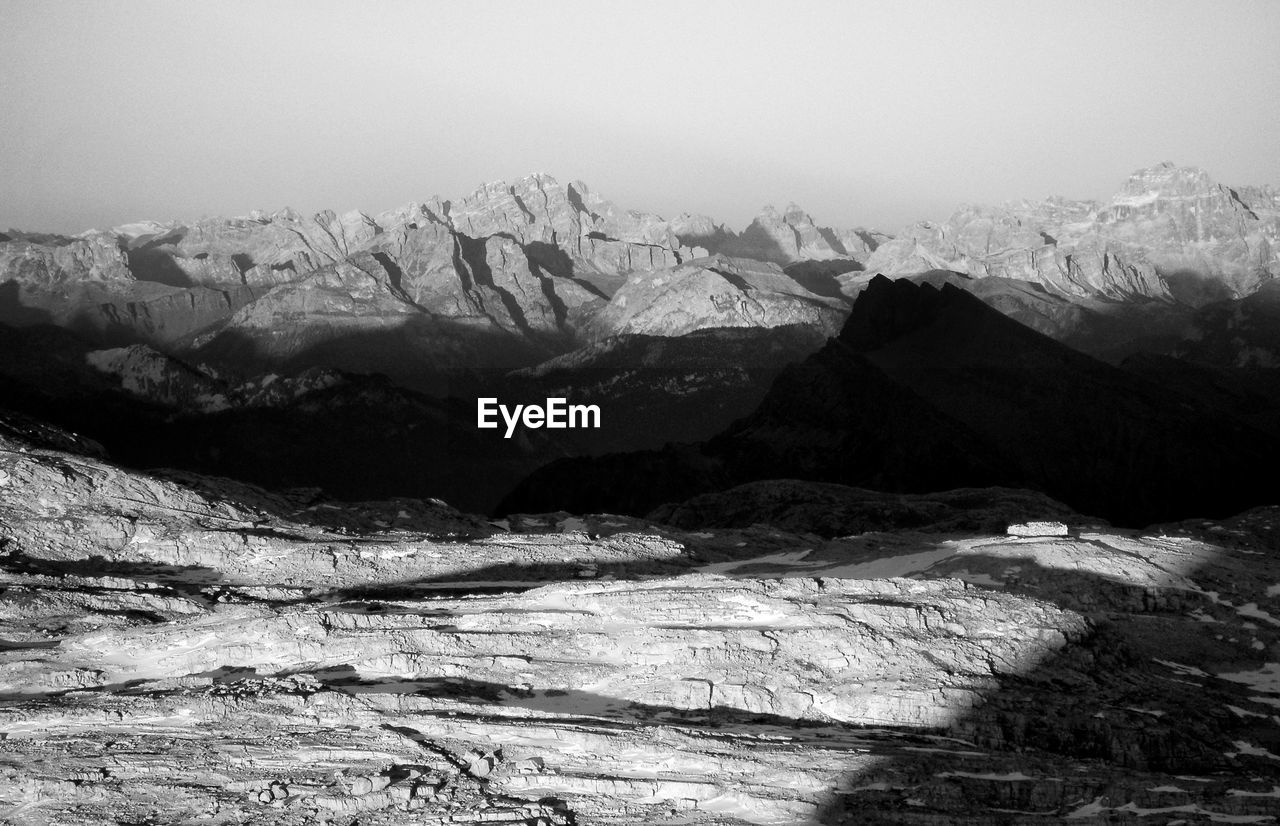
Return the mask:
<svg viewBox="0 0 1280 826">
<path fill-rule="evenodd" d="M 548 172 L 895 229 L 1162 160 L 1280 184 L 1280 1 L 0 0 L 0 228 Z"/>
</svg>

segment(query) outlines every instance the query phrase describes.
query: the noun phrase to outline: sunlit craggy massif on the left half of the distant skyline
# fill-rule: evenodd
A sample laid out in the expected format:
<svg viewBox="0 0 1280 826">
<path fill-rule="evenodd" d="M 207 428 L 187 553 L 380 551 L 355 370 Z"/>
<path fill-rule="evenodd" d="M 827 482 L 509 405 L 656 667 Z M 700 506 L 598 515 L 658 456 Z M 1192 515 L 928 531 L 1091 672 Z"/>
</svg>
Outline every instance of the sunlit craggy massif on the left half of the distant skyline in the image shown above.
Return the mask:
<svg viewBox="0 0 1280 826">
<path fill-rule="evenodd" d="M 468 362 L 494 347 L 461 339 L 497 337 L 507 351 L 497 361 L 521 365 L 567 347 L 626 273 L 692 255 L 657 215 L 530 175 L 376 218 L 280 210 L 77 238 L 8 234 L 0 320 L 52 321 L 110 343 L 215 343 L 215 352 L 276 361 L 443 320 L 449 334 L 436 333 L 444 341 L 424 356 Z"/>
</svg>

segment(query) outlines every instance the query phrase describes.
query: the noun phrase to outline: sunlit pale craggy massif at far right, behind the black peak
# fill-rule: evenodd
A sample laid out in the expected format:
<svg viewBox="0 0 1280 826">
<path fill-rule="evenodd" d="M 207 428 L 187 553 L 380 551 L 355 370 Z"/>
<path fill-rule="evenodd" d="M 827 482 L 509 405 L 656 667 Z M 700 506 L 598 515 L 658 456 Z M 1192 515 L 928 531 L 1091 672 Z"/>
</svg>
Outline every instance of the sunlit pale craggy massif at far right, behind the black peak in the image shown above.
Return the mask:
<svg viewBox="0 0 1280 826">
<path fill-rule="evenodd" d="M 1066 296 L 1157 297 L 1199 305 L 1242 297 L 1280 271 L 1271 190 L 1243 195 L 1203 170 L 1160 164 L 1110 202 L 965 206 L 881 245 L 867 269 L 947 269 L 1036 282 Z"/>
</svg>

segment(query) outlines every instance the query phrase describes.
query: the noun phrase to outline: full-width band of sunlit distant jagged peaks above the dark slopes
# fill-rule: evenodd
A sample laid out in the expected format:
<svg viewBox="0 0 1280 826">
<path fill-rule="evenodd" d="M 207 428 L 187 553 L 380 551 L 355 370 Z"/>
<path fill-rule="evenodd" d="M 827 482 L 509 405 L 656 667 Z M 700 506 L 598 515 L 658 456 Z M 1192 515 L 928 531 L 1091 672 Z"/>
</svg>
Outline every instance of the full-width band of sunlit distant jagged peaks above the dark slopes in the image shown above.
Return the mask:
<svg viewBox="0 0 1280 826">
<path fill-rule="evenodd" d="M 965 206 L 896 237 L 824 227 L 791 204 L 739 233 L 534 174 L 374 215 L 284 209 L 76 237 L 9 231 L 0 323 L 59 325 L 92 347 L 145 343 L 220 370 L 412 374 L 425 387 L 438 380 L 426 374 L 529 368 L 612 334 L 804 324 L 826 336 L 878 273 L 950 274 L 1112 362 L 1158 352 L 1261 365 L 1275 352 L 1257 324 L 1236 336 L 1221 312 L 1192 316 L 1272 279 L 1277 198 L 1162 164 L 1106 204 Z M 1188 343 L 1199 338 L 1210 343 Z"/>
</svg>

